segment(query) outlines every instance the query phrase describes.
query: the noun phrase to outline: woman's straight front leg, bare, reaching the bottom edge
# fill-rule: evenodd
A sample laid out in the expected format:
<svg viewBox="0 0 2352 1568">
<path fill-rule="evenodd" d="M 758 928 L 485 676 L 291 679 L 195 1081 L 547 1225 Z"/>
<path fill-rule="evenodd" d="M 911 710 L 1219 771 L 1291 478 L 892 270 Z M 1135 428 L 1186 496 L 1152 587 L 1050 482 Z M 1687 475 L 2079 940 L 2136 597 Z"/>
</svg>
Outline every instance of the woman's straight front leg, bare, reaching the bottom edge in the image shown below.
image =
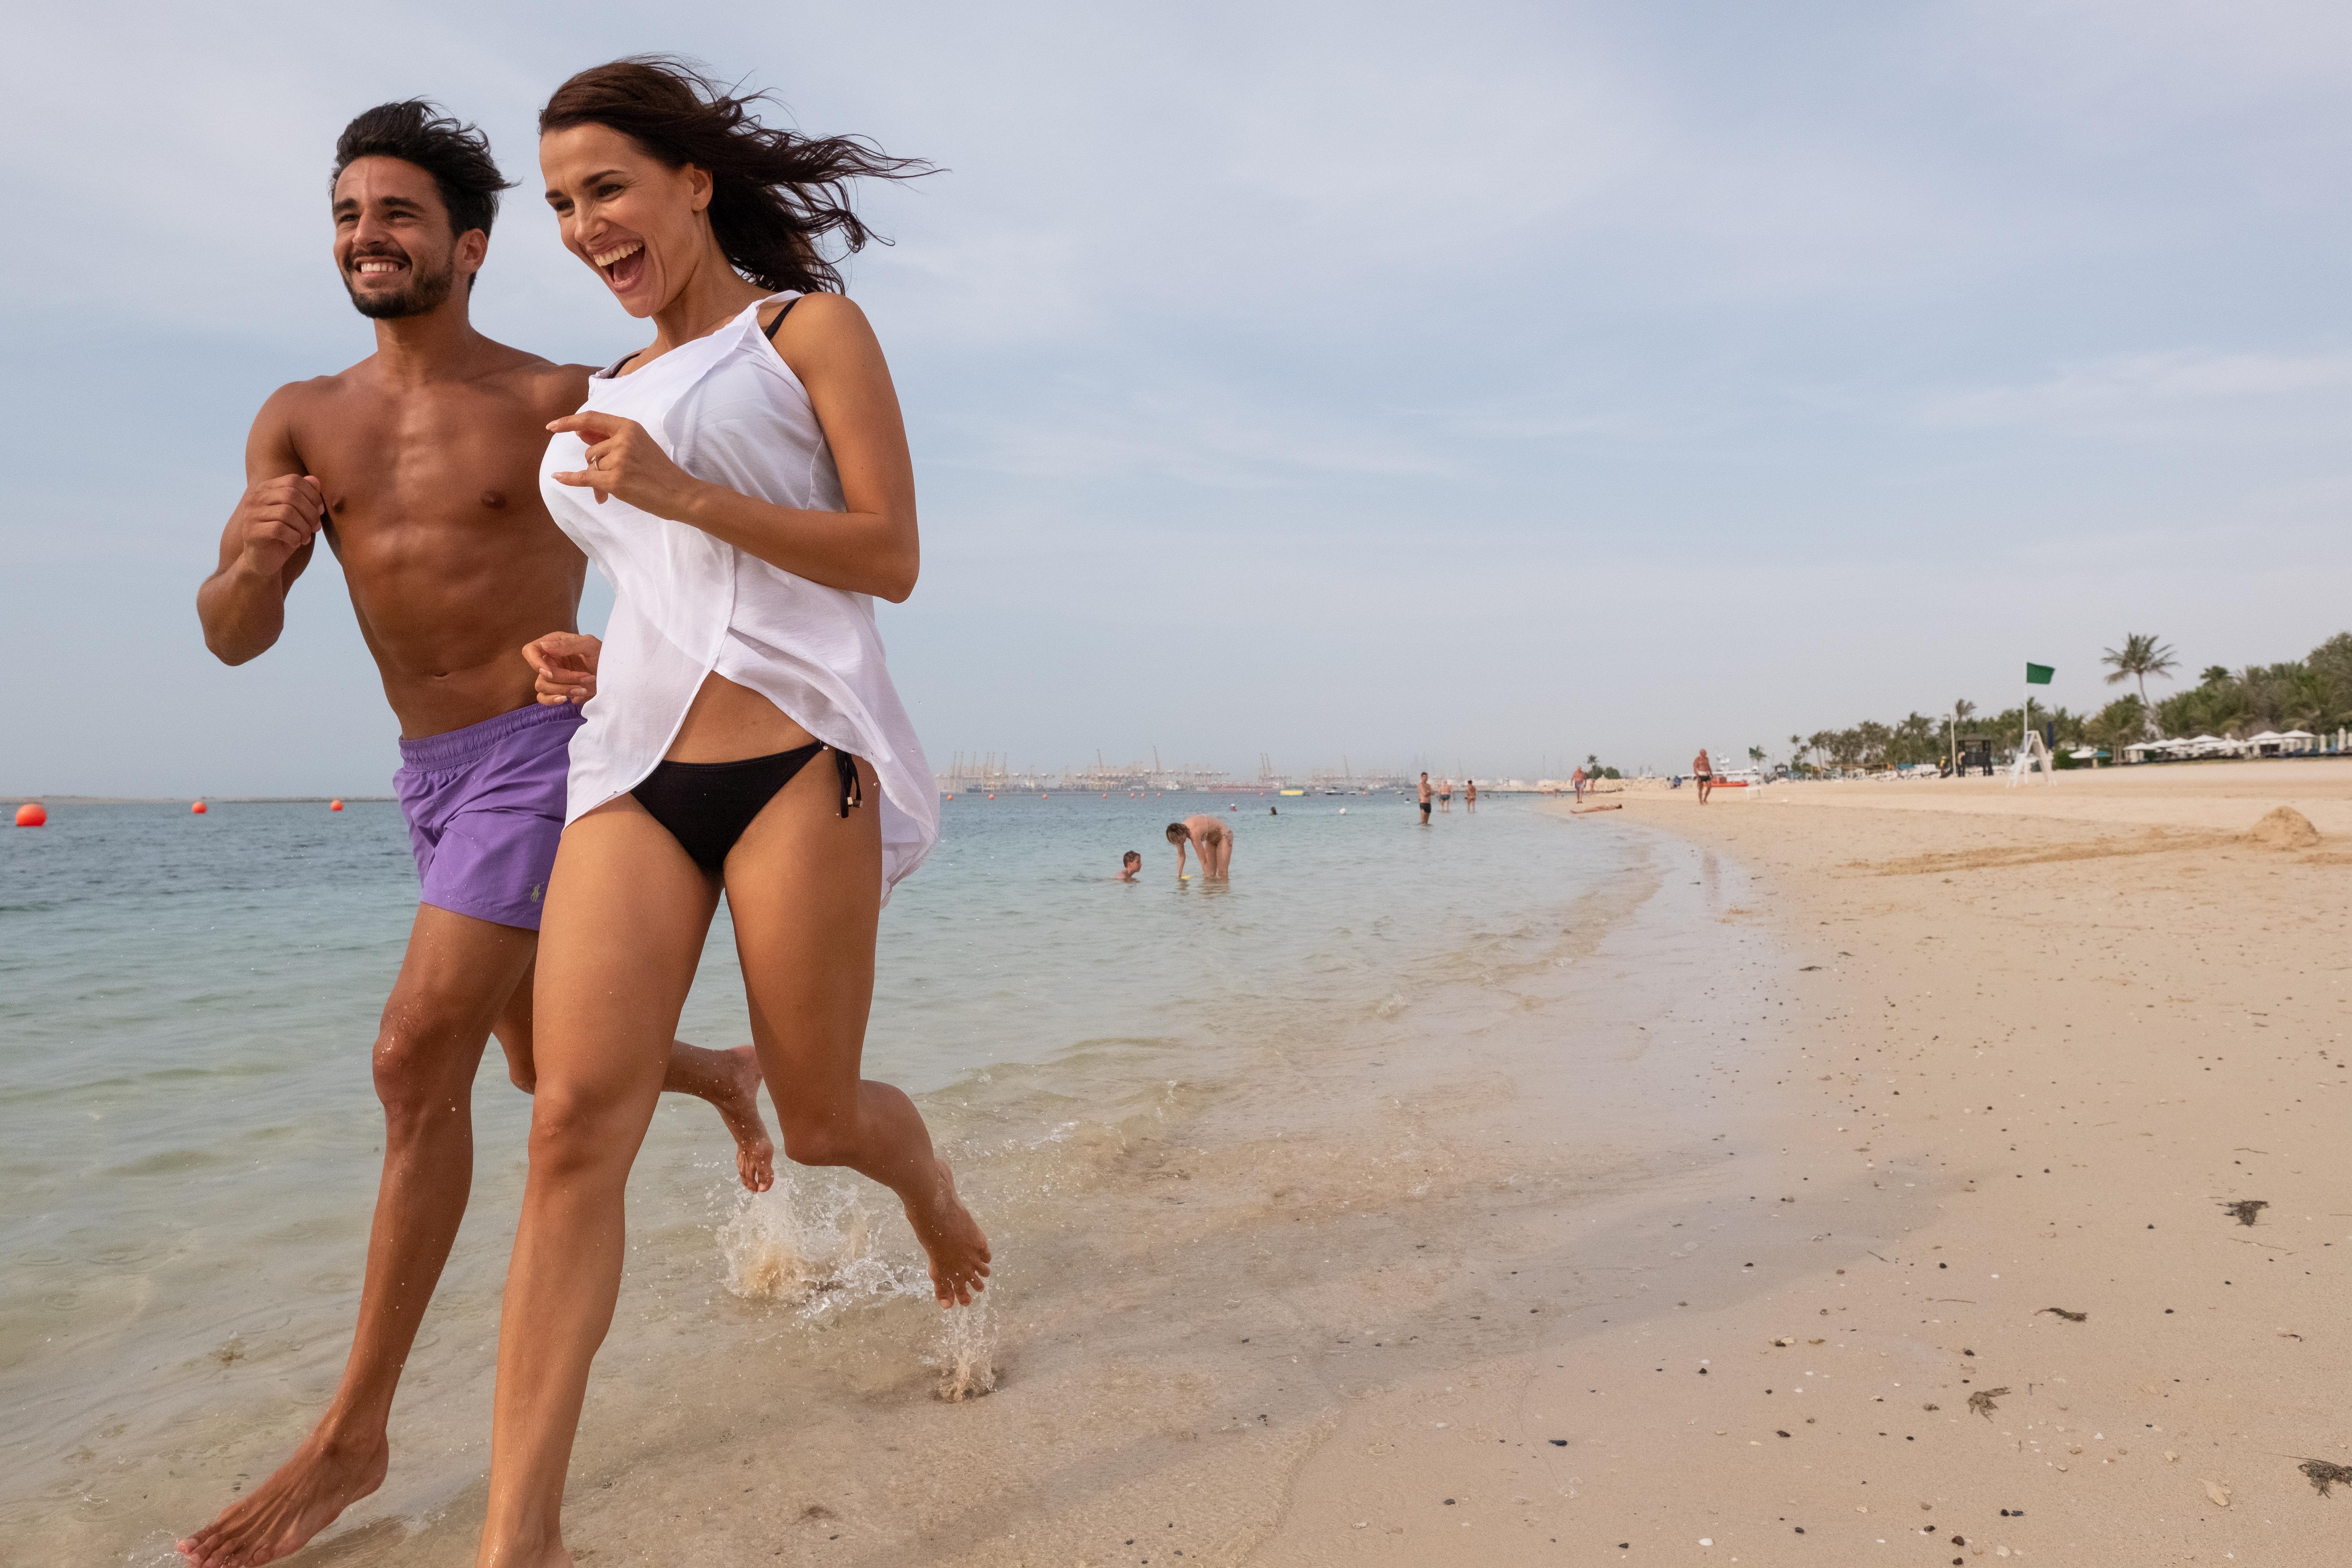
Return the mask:
<svg viewBox="0 0 2352 1568">
<path fill-rule="evenodd" d="M 569 1563 L 564 1469 L 621 1291 L 628 1168 L 717 889 L 635 799 L 564 827 L 532 997 L 532 1173 L 499 1312 L 482 1568 Z"/>
</svg>

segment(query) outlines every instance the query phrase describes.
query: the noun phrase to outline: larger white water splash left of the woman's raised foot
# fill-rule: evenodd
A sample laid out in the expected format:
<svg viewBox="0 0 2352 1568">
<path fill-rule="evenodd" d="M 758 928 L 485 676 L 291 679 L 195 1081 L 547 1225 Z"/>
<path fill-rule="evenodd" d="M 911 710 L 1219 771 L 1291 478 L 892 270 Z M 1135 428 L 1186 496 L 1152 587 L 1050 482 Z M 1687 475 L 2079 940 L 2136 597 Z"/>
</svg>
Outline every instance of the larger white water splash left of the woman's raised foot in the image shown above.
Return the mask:
<svg viewBox="0 0 2352 1568">
<path fill-rule="evenodd" d="M 891 1295 L 929 1298 L 924 1269 L 887 1258 L 875 1232 L 877 1215 L 847 1182 L 779 1171 L 767 1192 L 739 1190 L 720 1225 L 727 1288 L 809 1324 Z"/>
</svg>

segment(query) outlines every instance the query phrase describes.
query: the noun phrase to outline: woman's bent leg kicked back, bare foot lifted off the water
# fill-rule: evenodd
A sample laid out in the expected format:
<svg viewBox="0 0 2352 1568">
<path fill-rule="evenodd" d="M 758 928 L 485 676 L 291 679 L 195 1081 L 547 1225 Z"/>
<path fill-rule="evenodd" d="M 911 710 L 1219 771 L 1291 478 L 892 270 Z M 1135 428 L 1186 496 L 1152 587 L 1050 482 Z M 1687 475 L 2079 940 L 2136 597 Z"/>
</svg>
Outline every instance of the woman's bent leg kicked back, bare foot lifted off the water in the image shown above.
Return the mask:
<svg viewBox="0 0 2352 1568">
<path fill-rule="evenodd" d="M 727 910 L 786 1157 L 849 1166 L 896 1192 L 931 1258 L 938 1305 L 955 1307 L 983 1288 L 988 1237 L 957 1201 L 915 1103 L 858 1077 L 882 914 L 882 788 L 863 762 L 858 773 L 866 804 L 847 820 L 830 755 L 776 792 L 727 856 Z"/>
</svg>

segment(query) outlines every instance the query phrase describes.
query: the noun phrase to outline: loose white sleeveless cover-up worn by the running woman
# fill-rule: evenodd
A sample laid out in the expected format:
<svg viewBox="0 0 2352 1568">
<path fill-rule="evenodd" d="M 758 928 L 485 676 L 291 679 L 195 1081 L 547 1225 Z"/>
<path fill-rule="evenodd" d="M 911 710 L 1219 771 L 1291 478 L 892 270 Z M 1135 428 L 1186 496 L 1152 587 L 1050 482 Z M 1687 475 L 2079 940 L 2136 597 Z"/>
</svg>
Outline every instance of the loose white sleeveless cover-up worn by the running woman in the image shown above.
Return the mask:
<svg viewBox="0 0 2352 1568">
<path fill-rule="evenodd" d="M 781 299 L 793 294 L 771 296 Z M 771 301 L 630 376 L 595 376 L 581 411 L 637 421 L 696 480 L 840 512 L 842 480 L 809 393 L 760 334 L 760 306 Z M 637 788 L 677 738 L 703 677 L 717 672 L 873 764 L 887 900 L 938 842 L 938 788 L 889 679 L 873 597 L 793 576 L 619 496 L 600 505 L 595 491 L 550 477 L 586 465 L 588 444 L 569 430 L 539 465 L 555 524 L 614 590 L 597 691 L 572 736 L 564 820 Z"/>
</svg>

